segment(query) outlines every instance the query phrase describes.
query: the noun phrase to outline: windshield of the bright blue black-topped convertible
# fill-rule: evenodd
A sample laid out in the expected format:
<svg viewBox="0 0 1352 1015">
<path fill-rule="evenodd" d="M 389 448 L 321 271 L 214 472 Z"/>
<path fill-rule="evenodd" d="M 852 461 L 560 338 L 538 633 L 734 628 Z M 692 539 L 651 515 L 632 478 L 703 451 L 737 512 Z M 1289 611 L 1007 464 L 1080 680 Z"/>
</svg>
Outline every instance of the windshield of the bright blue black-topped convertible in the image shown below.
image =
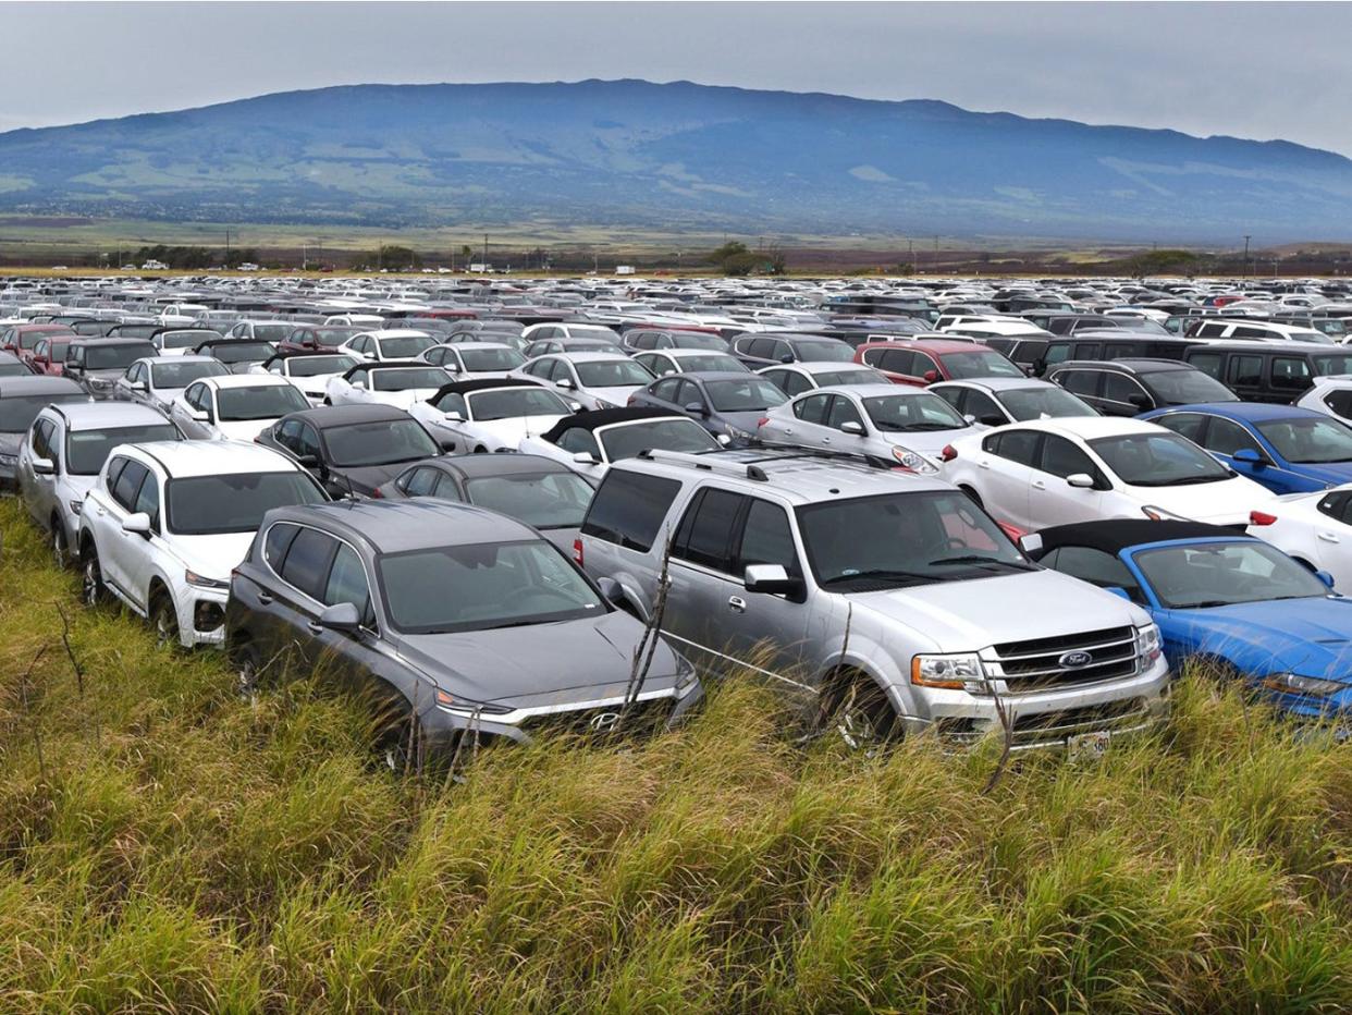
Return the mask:
<svg viewBox="0 0 1352 1015">
<path fill-rule="evenodd" d="M 1169 609 L 1322 598 L 1329 593 L 1306 568 L 1263 543 L 1160 547 L 1133 559 Z"/>
</svg>

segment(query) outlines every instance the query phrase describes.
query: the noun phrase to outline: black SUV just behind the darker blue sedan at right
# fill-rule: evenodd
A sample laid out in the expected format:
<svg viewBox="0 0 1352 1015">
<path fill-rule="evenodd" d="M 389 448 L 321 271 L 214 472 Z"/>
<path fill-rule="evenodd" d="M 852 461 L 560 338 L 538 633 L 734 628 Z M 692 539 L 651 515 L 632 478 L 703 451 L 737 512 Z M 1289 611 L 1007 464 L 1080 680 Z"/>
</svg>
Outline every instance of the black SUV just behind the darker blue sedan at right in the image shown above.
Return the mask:
<svg viewBox="0 0 1352 1015">
<path fill-rule="evenodd" d="M 1046 379 L 1103 415 L 1137 415 L 1195 402 L 1238 402 L 1225 384 L 1175 360 L 1071 360 L 1049 367 Z"/>
</svg>

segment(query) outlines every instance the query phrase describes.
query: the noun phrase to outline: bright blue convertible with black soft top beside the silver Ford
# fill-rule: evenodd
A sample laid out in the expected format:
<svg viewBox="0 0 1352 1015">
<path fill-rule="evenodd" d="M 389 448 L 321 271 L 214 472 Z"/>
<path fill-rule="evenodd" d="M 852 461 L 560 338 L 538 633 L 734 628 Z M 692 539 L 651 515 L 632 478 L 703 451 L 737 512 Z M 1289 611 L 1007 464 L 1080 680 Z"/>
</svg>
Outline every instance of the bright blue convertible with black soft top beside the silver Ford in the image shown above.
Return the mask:
<svg viewBox="0 0 1352 1015">
<path fill-rule="evenodd" d="M 1022 545 L 1044 567 L 1142 606 L 1175 667 L 1202 658 L 1288 713 L 1352 715 L 1352 600 L 1276 547 L 1215 525 L 1144 520 L 1057 525 Z"/>
</svg>

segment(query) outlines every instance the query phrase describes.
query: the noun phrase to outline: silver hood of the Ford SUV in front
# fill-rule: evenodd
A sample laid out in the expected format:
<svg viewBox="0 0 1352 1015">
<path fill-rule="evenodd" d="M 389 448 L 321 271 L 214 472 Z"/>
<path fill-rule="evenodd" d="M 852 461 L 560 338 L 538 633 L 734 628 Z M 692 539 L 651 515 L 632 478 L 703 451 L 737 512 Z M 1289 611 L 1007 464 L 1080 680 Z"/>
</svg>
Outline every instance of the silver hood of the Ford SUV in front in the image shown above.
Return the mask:
<svg viewBox="0 0 1352 1015">
<path fill-rule="evenodd" d="M 1142 625 L 1142 609 L 1113 593 L 1056 571 L 1017 571 L 975 581 L 937 582 L 886 591 L 849 593 L 854 609 L 902 624 L 938 652 L 975 652 L 1006 641 Z M 1036 610 L 1010 604 L 1036 602 Z"/>
</svg>

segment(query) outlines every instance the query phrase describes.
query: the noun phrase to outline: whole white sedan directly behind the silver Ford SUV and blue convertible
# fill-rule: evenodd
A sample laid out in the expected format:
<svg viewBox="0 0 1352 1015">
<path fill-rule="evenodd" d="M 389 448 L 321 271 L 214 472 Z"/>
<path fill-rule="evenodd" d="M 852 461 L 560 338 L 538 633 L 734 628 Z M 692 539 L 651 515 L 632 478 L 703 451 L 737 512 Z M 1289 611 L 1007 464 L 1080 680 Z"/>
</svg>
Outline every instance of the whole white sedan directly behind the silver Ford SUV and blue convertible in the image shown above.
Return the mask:
<svg viewBox="0 0 1352 1015">
<path fill-rule="evenodd" d="M 1272 501 L 1192 441 L 1140 420 L 1029 420 L 956 440 L 941 457 L 945 479 L 1030 532 L 1098 518 L 1247 525 Z"/>
</svg>

